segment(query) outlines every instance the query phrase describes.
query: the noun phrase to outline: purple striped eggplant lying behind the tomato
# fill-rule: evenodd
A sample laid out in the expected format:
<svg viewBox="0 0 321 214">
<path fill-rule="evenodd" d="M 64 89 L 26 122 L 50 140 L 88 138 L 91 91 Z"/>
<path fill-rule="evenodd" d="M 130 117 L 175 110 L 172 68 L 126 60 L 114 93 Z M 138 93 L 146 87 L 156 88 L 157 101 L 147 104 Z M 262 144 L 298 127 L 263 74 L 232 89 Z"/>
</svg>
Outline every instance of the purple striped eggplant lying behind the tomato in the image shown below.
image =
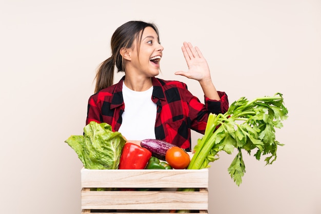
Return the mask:
<svg viewBox="0 0 321 214">
<path fill-rule="evenodd" d="M 145 139 L 141 141 L 141 146 L 152 152 L 152 156 L 158 158 L 159 160 L 166 161 L 165 155 L 169 148 L 175 145 L 162 140 L 155 139 Z"/>
</svg>

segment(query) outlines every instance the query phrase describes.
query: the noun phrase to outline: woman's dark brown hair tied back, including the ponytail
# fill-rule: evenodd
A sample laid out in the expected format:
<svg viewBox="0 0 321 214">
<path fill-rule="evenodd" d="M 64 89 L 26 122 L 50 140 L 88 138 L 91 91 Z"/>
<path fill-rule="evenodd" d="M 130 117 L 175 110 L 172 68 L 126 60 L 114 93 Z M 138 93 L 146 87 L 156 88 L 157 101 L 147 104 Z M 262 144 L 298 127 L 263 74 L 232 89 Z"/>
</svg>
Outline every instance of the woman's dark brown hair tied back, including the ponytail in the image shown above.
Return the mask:
<svg viewBox="0 0 321 214">
<path fill-rule="evenodd" d="M 130 21 L 115 30 L 110 42 L 112 55 L 99 66 L 95 76 L 95 93 L 113 85 L 115 65 L 117 72 L 125 71 L 124 60 L 120 53 L 122 48 L 131 48 L 136 39 L 137 53 L 139 53 L 143 31 L 146 27 L 152 27 L 158 35 L 158 29 L 154 24 L 142 21 Z"/>
</svg>

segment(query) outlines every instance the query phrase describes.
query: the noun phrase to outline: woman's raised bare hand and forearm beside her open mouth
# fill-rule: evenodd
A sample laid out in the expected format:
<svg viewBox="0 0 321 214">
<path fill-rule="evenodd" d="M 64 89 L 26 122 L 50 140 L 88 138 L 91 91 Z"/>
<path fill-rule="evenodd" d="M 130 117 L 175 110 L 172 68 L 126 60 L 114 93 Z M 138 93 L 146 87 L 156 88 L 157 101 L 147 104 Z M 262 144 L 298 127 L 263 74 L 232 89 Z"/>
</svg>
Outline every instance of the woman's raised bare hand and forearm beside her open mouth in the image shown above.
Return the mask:
<svg viewBox="0 0 321 214">
<path fill-rule="evenodd" d="M 204 95 L 210 100 L 220 100 L 216 88 L 211 79 L 211 73 L 207 61 L 198 47 L 191 43 L 184 42 L 182 51 L 188 66 L 188 71 L 177 71 L 176 75 L 186 76 L 189 79 L 197 80 L 204 91 Z"/>
</svg>

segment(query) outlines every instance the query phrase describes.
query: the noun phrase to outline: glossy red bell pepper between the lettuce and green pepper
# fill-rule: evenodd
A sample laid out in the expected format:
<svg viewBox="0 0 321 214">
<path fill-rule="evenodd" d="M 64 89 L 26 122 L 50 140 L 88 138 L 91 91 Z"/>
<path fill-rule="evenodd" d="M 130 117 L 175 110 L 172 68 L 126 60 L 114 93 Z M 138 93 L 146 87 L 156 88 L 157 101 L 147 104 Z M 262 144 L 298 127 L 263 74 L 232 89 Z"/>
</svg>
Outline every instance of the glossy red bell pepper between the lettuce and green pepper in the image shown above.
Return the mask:
<svg viewBox="0 0 321 214">
<path fill-rule="evenodd" d="M 152 153 L 134 143 L 126 143 L 122 150 L 118 169 L 144 169 Z"/>
</svg>

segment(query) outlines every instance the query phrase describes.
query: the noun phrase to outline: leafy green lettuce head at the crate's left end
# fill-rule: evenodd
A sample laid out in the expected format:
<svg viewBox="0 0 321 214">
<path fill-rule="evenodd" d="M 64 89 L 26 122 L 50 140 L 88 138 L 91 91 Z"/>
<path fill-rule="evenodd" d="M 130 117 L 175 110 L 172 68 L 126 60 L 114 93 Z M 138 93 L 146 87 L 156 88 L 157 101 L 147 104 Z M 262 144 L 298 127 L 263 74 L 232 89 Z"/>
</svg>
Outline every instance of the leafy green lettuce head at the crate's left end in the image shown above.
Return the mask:
<svg viewBox="0 0 321 214">
<path fill-rule="evenodd" d="M 90 122 L 84 135 L 71 135 L 66 141 L 87 169 L 117 169 L 126 140 L 107 123 Z"/>
</svg>

